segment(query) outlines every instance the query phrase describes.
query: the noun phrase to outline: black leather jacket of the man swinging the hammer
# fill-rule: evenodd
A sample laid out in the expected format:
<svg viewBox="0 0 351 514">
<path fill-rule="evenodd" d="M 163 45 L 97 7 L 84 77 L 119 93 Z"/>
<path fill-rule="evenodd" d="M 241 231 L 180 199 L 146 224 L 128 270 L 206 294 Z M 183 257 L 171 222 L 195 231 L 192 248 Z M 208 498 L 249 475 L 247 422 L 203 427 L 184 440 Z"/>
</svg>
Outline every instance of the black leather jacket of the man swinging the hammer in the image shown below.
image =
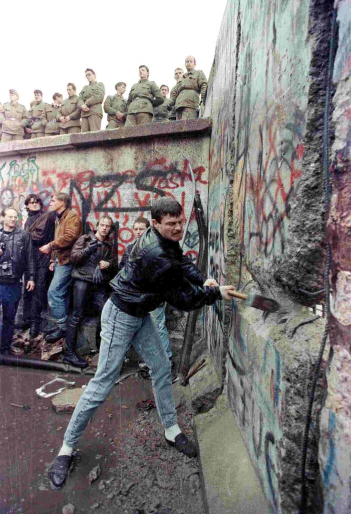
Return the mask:
<svg viewBox="0 0 351 514">
<path fill-rule="evenodd" d="M 183 255 L 179 243 L 148 228 L 132 248 L 125 266 L 110 282 L 111 300 L 123 312 L 146 316 L 166 301 L 181 310 L 212 305 L 219 287 L 202 287 L 205 277 Z"/>
</svg>

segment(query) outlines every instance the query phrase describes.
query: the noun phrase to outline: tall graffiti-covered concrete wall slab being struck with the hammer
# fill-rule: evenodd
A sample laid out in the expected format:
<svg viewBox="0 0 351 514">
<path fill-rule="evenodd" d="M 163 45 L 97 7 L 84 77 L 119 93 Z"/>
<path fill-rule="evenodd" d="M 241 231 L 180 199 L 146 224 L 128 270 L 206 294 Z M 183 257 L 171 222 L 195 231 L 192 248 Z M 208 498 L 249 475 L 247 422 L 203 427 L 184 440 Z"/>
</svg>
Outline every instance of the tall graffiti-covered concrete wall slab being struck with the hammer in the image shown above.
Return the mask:
<svg viewBox="0 0 351 514">
<path fill-rule="evenodd" d="M 279 313 L 233 302 L 207 317 L 208 346 L 274 512 L 301 499 L 302 434 L 324 320 L 321 145 L 331 3 L 228 2 L 208 95 L 209 274 L 273 296 Z M 224 320 L 224 323 L 223 323 Z M 322 361 L 307 454 L 308 512 L 322 511 Z"/>
</svg>

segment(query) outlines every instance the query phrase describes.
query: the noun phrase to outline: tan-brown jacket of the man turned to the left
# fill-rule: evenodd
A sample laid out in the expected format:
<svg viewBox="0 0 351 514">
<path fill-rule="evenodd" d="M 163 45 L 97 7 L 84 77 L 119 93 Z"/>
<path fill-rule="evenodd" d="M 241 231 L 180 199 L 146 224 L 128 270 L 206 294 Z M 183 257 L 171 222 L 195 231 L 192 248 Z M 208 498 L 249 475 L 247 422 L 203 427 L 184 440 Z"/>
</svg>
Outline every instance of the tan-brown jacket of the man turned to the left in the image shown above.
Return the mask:
<svg viewBox="0 0 351 514">
<path fill-rule="evenodd" d="M 80 218 L 72 209 L 66 209 L 60 218 L 56 217 L 55 237 L 49 243 L 52 250 L 51 261 L 55 260 L 56 254 L 59 266 L 68 264 L 73 245 L 81 232 Z"/>
</svg>

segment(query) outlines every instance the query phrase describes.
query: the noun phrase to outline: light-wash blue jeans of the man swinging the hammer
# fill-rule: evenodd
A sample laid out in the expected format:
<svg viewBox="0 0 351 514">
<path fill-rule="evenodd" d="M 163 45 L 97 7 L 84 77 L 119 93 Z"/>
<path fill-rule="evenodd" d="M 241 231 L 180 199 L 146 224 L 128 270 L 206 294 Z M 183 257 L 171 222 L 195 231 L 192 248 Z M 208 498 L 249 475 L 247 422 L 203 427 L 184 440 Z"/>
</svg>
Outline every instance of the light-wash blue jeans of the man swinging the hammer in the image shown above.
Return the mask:
<svg viewBox="0 0 351 514">
<path fill-rule="evenodd" d="M 64 436 L 69 446 L 76 445 L 89 419 L 110 394 L 131 344 L 150 369 L 156 407 L 162 425 L 171 427 L 177 423 L 171 363 L 162 348 L 150 315 L 136 318 L 123 313 L 109 299 L 101 314 L 101 344 L 97 370 L 81 395 Z"/>
</svg>

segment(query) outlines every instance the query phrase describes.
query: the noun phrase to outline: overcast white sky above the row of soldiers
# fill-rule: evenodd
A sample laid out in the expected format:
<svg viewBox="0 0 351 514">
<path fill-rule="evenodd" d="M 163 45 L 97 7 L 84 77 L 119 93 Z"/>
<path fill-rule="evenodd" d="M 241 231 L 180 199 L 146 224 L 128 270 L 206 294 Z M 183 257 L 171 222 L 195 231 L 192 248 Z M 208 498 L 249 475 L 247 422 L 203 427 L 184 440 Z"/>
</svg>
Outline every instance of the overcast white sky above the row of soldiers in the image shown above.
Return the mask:
<svg viewBox="0 0 351 514">
<path fill-rule="evenodd" d="M 79 94 L 87 67 L 105 84 L 106 95 L 123 81 L 127 98 L 140 64 L 149 66 L 150 80 L 171 88 L 174 68 L 184 69 L 189 54 L 208 77 L 225 5 L 226 0 L 4 2 L 0 101 L 8 102 L 14 88 L 29 108 L 33 89 L 41 89 L 51 103 L 56 91 L 67 97 L 67 82 Z"/>
</svg>

